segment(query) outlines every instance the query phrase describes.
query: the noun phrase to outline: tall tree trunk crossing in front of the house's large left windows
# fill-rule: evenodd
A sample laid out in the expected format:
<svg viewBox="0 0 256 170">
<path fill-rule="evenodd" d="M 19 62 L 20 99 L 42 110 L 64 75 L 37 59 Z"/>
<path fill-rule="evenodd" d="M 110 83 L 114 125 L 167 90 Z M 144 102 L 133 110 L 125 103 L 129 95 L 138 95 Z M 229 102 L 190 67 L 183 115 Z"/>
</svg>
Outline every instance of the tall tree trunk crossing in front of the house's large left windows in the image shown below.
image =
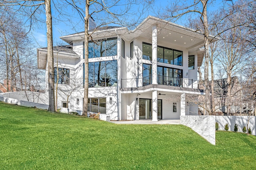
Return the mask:
<svg viewBox="0 0 256 170">
<path fill-rule="evenodd" d="M 88 109 L 88 22 L 89 22 L 89 0 L 86 0 L 85 18 L 84 18 L 84 104 L 82 115 L 87 115 Z"/>
</svg>

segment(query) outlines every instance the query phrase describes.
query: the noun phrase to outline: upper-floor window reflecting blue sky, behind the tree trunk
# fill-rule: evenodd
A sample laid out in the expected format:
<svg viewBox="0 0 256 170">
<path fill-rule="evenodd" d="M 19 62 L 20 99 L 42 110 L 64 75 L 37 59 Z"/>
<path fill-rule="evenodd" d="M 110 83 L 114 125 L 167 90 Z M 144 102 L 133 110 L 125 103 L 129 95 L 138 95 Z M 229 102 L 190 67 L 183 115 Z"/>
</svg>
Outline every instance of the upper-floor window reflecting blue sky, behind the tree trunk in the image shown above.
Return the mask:
<svg viewBox="0 0 256 170">
<path fill-rule="evenodd" d="M 117 55 L 117 38 L 89 41 L 89 58 Z"/>
</svg>

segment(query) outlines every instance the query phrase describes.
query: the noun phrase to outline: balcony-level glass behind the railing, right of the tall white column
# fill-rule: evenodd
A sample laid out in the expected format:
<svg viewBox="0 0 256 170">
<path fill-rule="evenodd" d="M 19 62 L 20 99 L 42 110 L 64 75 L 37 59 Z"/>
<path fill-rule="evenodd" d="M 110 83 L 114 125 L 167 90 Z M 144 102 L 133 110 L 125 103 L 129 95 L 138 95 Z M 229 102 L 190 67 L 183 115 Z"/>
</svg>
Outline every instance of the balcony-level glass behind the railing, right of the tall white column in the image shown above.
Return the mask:
<svg viewBox="0 0 256 170">
<path fill-rule="evenodd" d="M 168 67 L 157 67 L 157 81 L 160 85 L 182 87 L 182 70 Z"/>
</svg>

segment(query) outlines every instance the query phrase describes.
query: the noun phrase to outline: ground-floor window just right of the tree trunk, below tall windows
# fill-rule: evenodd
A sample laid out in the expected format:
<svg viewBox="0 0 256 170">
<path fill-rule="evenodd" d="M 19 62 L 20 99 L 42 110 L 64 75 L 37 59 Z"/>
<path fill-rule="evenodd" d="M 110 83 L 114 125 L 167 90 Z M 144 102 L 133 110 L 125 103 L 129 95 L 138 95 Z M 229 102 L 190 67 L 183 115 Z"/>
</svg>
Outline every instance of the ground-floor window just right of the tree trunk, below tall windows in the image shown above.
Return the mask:
<svg viewBox="0 0 256 170">
<path fill-rule="evenodd" d="M 88 111 L 106 114 L 106 98 L 88 98 Z"/>
</svg>

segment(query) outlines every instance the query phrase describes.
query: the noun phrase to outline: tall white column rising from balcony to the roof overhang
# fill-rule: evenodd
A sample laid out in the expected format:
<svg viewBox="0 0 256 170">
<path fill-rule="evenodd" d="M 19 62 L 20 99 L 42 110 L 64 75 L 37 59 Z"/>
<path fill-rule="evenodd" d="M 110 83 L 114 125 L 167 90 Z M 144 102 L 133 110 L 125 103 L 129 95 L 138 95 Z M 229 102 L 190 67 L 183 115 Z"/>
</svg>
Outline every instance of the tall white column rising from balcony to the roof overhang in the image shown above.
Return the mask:
<svg viewBox="0 0 256 170">
<path fill-rule="evenodd" d="M 157 28 L 152 27 L 152 84 L 157 84 Z"/>
</svg>

